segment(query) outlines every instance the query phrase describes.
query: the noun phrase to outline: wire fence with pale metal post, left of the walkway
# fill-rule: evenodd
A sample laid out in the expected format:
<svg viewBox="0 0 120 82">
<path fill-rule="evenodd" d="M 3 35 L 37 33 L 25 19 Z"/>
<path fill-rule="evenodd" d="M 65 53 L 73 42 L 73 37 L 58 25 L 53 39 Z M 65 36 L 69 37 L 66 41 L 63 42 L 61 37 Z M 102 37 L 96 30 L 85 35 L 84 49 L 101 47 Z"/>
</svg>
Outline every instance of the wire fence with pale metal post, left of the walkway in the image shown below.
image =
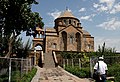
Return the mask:
<svg viewBox="0 0 120 82">
<path fill-rule="evenodd" d="M 33 67 L 33 59 L 0 57 L 0 82 L 21 79 Z"/>
</svg>

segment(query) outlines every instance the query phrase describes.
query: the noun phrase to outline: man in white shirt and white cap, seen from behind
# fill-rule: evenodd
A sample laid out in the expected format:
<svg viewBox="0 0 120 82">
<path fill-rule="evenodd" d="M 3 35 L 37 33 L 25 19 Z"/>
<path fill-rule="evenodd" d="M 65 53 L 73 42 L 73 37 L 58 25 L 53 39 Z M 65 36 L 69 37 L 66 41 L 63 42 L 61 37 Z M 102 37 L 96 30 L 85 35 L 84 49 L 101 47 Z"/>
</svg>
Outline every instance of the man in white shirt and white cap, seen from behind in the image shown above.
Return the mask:
<svg viewBox="0 0 120 82">
<path fill-rule="evenodd" d="M 96 82 L 106 82 L 108 68 L 107 64 L 103 60 L 103 57 L 99 57 L 99 61 L 94 66 L 94 72 L 99 72 L 99 76 L 96 79 Z"/>
</svg>

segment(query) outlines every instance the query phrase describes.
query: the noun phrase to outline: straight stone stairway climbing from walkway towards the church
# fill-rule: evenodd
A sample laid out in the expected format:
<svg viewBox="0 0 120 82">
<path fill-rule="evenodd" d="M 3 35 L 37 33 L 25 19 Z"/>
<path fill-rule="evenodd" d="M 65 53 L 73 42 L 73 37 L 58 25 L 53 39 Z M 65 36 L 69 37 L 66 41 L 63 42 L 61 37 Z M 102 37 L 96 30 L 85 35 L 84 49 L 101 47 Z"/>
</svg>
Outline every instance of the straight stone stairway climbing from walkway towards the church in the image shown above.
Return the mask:
<svg viewBox="0 0 120 82">
<path fill-rule="evenodd" d="M 55 68 L 52 52 L 44 53 L 44 68 Z"/>
</svg>

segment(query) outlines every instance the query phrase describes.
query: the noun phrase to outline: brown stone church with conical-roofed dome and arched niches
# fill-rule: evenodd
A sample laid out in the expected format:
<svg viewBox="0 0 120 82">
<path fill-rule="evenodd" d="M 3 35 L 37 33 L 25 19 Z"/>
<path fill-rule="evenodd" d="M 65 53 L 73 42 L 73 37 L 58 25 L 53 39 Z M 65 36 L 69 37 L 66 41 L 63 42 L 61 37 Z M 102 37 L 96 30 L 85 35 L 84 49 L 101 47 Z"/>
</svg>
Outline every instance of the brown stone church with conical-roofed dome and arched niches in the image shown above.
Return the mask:
<svg viewBox="0 0 120 82">
<path fill-rule="evenodd" d="M 83 29 L 80 20 L 65 10 L 54 20 L 53 28 L 36 27 L 38 35 L 33 39 L 33 48 L 42 47 L 45 53 L 56 51 L 94 51 L 94 37 Z M 42 36 L 42 37 L 41 37 Z"/>
</svg>

